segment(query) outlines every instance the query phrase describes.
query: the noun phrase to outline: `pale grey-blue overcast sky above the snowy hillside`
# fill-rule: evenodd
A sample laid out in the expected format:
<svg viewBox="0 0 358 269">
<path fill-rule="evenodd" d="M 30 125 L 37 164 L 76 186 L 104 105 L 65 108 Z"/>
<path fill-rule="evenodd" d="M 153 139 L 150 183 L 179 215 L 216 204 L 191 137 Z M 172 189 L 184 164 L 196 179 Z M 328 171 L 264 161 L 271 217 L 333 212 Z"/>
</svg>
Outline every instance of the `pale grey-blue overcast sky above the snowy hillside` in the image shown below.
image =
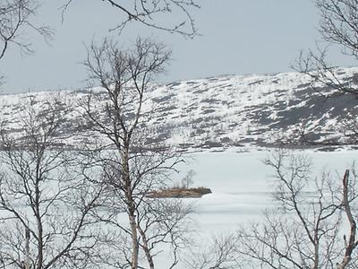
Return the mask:
<svg viewBox="0 0 358 269">
<path fill-rule="evenodd" d="M 0 71 L 6 77 L 4 93 L 85 87 L 86 71 L 79 64 L 86 56 L 84 44 L 107 36 L 121 21 L 119 13 L 99 0 L 76 0 L 61 23 L 61 1 L 47 0 L 38 22 L 55 30 L 54 39 L 32 40 L 36 53 L 21 56 L 10 48 Z M 173 49 L 173 61 L 161 82 L 220 74 L 268 74 L 292 71 L 301 49 L 315 47 L 320 39 L 319 16 L 311 0 L 198 0 L 192 13 L 201 36 L 178 35 L 131 25 L 119 36 L 130 44 L 137 36 L 152 37 Z M 354 65 L 333 49 L 335 65 Z"/>
</svg>

